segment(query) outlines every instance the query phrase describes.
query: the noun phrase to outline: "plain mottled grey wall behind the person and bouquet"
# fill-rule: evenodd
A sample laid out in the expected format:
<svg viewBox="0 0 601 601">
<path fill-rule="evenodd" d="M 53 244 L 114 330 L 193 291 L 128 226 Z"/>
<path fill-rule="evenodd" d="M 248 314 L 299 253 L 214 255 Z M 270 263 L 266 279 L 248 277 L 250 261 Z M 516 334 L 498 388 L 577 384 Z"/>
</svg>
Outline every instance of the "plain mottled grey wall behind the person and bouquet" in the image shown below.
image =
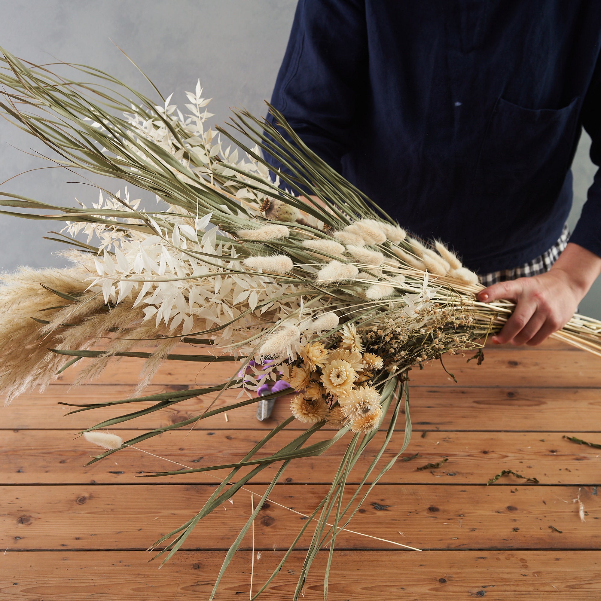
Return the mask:
<svg viewBox="0 0 601 601">
<path fill-rule="evenodd" d="M 264 113 L 263 100 L 270 97 L 295 6 L 296 0 L 0 0 L 0 46 L 34 63 L 60 59 L 89 64 L 152 97 L 150 86 L 112 40 L 163 96 L 175 93 L 172 102 L 183 105 L 183 91 L 194 90 L 200 78 L 204 96 L 213 97 L 208 107 L 215 113 L 212 119 L 221 123 L 229 106 Z M 571 227 L 596 169 L 588 147 L 590 138 L 584 134 L 573 165 Z M 17 149 L 47 153 L 43 144 L 0 121 L 0 182 L 49 165 Z M 64 169 L 43 169 L 2 184 L 2 190 L 53 204 L 73 204 L 78 197 L 90 206 L 97 191 L 66 183 L 73 179 Z M 119 186 L 114 180 L 94 181 L 112 191 Z M 154 203 L 150 194 L 142 194 Z M 0 269 L 62 266 L 61 257 L 53 255 L 62 245 L 42 238 L 51 229 L 47 222 L 0 215 Z M 580 310 L 601 319 L 601 278 Z"/>
</svg>

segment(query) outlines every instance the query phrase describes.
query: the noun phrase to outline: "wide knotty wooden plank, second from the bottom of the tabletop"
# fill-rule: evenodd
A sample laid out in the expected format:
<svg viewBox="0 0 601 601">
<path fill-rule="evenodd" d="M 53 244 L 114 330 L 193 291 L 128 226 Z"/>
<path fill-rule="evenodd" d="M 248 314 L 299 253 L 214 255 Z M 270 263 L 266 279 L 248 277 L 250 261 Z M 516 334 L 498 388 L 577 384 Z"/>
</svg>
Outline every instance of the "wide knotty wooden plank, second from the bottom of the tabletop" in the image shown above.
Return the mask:
<svg viewBox="0 0 601 601">
<path fill-rule="evenodd" d="M 249 486 L 257 495 L 265 486 Z M 255 548 L 287 548 L 329 487 L 277 485 L 255 520 Z M 0 528 L 9 551 L 144 550 L 200 510 L 213 486 L 0 487 Z M 513 491 L 513 492 L 512 492 Z M 377 485 L 349 528 L 419 549 L 599 549 L 596 489 L 556 486 Z M 347 490 L 347 497 L 352 493 Z M 580 495 L 586 522 L 578 516 Z M 250 493 L 202 520 L 189 550 L 227 549 L 251 513 Z M 255 496 L 255 502 L 258 498 Z M 402 532 L 402 534 L 400 534 Z M 341 549 L 394 549 L 392 543 L 341 532 Z M 247 536 L 243 547 L 249 548 Z M 301 539 L 301 548 L 308 537 Z"/>
</svg>

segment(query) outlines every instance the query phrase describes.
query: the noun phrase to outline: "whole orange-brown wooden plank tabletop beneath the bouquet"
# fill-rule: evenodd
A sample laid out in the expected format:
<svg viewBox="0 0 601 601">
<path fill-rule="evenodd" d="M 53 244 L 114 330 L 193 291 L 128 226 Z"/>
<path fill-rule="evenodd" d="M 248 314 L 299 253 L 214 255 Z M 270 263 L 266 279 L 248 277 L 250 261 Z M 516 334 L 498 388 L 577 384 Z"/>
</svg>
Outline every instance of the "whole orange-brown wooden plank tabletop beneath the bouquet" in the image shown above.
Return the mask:
<svg viewBox="0 0 601 601">
<path fill-rule="evenodd" d="M 601 599 L 601 449 L 563 438 L 575 435 L 601 443 L 601 359 L 552 343 L 536 349 L 487 349 L 485 355 L 480 367 L 462 357 L 445 361 L 457 384 L 438 364 L 412 371 L 414 433 L 404 456 L 419 456 L 397 462 L 386 473 L 349 528 L 423 552 L 345 532 L 338 538 L 330 601 Z M 76 433 L 114 412 L 64 417 L 64 407 L 56 404 L 127 398 L 139 366 L 136 359 L 124 359 L 99 383 L 71 391 L 68 370 L 44 394 L 24 395 L 2 409 L 2 601 L 208 598 L 225 550 L 251 512 L 251 493 L 240 492 L 233 505 L 227 503 L 201 522 L 185 550 L 157 570 L 159 564 L 147 563 L 151 555 L 144 549 L 195 514 L 215 478 L 138 478 L 172 464 L 133 449 L 84 467 L 96 453 Z M 223 381 L 232 370 L 231 364 L 197 370 L 170 362 L 151 391 Z M 234 398 L 225 395 L 218 404 Z M 186 401 L 114 431 L 128 439 L 133 430 L 197 415 L 202 406 L 198 399 Z M 139 446 L 189 466 L 239 460 L 287 415 L 287 403 L 281 400 L 273 418 L 260 423 L 251 406 L 229 412 L 228 421 L 218 415 L 192 432 L 172 432 Z M 281 440 L 293 435 L 284 432 Z M 401 430 L 395 433 L 387 457 L 402 438 Z M 335 447 L 288 468 L 273 501 L 310 512 L 341 451 Z M 371 453 L 366 452 L 362 467 Z M 448 462 L 439 469 L 416 470 L 444 457 Z M 486 486 L 502 469 L 538 478 L 540 484 L 505 476 Z M 358 473 L 349 481 L 356 481 Z M 249 488 L 262 493 L 266 482 L 263 477 Z M 260 511 L 254 591 L 303 523 L 302 516 L 275 504 Z M 248 535 L 216 599 L 248 599 L 251 545 Z M 303 558 L 302 551 L 294 553 L 261 599 L 290 599 Z M 322 599 L 322 560 L 314 564 L 305 600 Z"/>
</svg>

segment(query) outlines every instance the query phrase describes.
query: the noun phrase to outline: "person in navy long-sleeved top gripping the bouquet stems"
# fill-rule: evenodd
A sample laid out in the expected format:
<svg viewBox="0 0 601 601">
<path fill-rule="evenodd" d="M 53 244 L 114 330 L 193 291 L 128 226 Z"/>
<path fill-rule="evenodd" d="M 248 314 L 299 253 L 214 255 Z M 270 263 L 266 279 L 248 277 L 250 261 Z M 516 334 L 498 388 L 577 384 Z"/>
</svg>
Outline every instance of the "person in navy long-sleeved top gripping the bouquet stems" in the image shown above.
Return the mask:
<svg viewBox="0 0 601 601">
<path fill-rule="evenodd" d="M 535 345 L 601 273 L 599 172 L 565 225 L 582 126 L 601 160 L 600 49 L 598 0 L 299 0 L 271 102 L 400 225 L 449 243 L 480 301 L 516 302 L 493 342 Z"/>
</svg>

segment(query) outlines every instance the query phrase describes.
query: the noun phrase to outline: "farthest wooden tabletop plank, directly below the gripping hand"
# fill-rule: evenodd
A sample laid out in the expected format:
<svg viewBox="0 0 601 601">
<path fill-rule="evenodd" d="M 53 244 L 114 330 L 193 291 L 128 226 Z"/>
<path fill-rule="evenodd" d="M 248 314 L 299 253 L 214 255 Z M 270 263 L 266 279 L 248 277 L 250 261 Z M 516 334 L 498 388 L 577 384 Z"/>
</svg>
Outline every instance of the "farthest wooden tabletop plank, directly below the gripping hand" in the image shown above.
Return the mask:
<svg viewBox="0 0 601 601">
<path fill-rule="evenodd" d="M 601 387 L 601 359 L 584 351 L 557 349 L 540 350 L 486 349 L 485 362 L 469 363 L 469 355 L 445 356 L 445 366 L 455 374 L 462 386 L 573 386 Z M 85 361 L 85 360 L 84 360 Z M 97 383 L 135 384 L 142 368 L 142 359 L 123 358 L 100 376 Z M 77 367 L 64 371 L 59 382 L 72 383 Z M 154 376 L 160 385 L 209 385 L 224 382 L 239 369 L 239 364 L 167 361 Z M 413 382 L 429 386 L 447 385 L 452 380 L 441 366 L 427 365 L 411 372 Z"/>
</svg>

